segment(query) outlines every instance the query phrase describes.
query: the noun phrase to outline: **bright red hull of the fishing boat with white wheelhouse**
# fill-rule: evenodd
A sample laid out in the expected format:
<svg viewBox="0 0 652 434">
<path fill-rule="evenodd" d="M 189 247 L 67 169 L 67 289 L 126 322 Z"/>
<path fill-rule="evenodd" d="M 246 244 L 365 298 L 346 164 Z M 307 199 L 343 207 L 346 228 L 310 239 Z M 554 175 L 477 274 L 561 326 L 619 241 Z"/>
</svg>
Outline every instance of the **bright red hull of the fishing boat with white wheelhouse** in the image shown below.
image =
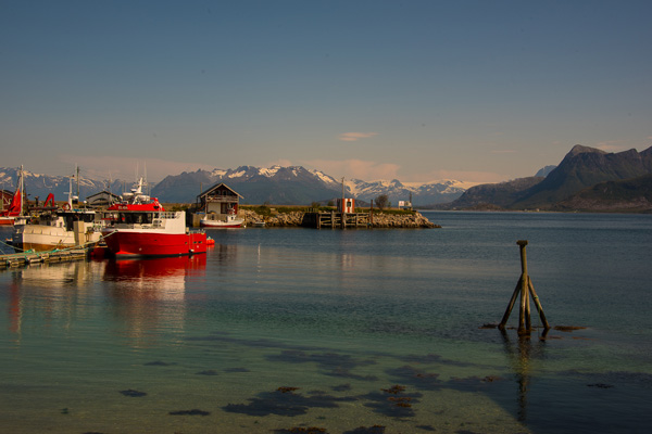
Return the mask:
<svg viewBox="0 0 652 434">
<path fill-rule="evenodd" d="M 104 239 L 117 256 L 179 256 L 206 253 L 206 234 L 116 231 Z"/>
</svg>

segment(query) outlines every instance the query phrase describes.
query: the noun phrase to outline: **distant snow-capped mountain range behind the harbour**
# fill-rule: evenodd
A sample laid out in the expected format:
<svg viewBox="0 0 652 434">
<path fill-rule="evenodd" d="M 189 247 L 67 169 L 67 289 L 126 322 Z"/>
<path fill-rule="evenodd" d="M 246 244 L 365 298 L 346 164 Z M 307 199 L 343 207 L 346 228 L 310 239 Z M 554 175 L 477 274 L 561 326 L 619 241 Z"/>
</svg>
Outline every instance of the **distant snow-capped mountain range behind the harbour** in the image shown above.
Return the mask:
<svg viewBox="0 0 652 434">
<path fill-rule="evenodd" d="M 17 168 L 0 168 L 0 184 L 3 189 L 14 191 L 17 180 Z M 63 176 L 48 176 L 25 171 L 25 191 L 29 200 L 37 196 L 45 201 L 49 193 L 57 201 L 67 199 L 72 180 L 73 194 L 77 192 L 77 179 Z M 193 203 L 196 197 L 212 186 L 224 182 L 240 195 L 244 204 L 275 205 L 310 205 L 313 202 L 328 203 L 342 195 L 341 180 L 319 170 L 309 170 L 301 166 L 260 168 L 241 166 L 236 169 L 197 170 L 171 175 L 161 182 L 149 186 L 149 193 L 164 203 Z M 80 200 L 106 190 L 122 194 L 131 187 L 133 181 L 97 180 L 80 177 L 78 191 Z M 361 205 L 368 204 L 380 194 L 387 194 L 389 201 L 397 205 L 399 201 L 412 202 L 415 206 L 451 202 L 469 184 L 443 180 L 428 183 L 402 183 L 398 179 L 391 181 L 344 180 L 344 194 L 355 197 Z"/>
</svg>

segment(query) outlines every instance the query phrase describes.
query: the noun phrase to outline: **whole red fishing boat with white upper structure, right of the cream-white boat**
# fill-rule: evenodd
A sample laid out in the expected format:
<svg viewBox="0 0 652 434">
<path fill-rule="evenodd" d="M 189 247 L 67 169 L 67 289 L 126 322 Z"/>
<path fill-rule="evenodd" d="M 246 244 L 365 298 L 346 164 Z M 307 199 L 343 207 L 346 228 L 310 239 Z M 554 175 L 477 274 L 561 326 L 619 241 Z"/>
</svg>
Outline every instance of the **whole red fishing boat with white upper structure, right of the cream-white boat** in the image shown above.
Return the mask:
<svg viewBox="0 0 652 434">
<path fill-rule="evenodd" d="M 124 201 L 111 205 L 102 235 L 116 256 L 179 256 L 206 252 L 206 234 L 186 227 L 184 212 L 166 212 L 142 193 L 142 178 Z"/>
</svg>

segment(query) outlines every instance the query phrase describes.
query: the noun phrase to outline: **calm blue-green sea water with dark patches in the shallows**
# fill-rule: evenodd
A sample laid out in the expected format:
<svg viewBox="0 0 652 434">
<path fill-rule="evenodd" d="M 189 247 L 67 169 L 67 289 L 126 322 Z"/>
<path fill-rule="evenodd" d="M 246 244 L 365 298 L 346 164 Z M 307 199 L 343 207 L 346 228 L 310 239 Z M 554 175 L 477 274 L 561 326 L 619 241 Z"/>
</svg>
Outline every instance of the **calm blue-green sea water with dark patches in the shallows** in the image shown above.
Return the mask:
<svg viewBox="0 0 652 434">
<path fill-rule="evenodd" d="M 649 431 L 652 216 L 424 214 L 442 228 L 0 271 L 0 432 Z M 581 329 L 481 328 L 516 240 L 551 326 Z"/>
</svg>

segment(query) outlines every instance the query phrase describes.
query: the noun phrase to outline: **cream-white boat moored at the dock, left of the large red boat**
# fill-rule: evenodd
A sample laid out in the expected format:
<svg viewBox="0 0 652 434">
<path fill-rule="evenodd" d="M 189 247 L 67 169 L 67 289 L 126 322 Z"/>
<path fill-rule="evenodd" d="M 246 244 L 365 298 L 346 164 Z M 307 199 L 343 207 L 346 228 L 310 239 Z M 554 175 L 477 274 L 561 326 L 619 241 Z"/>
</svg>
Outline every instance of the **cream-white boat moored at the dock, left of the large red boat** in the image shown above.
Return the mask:
<svg viewBox="0 0 652 434">
<path fill-rule="evenodd" d="M 100 216 L 95 210 L 74 208 L 68 192 L 68 202 L 63 209 L 45 212 L 34 218 L 16 217 L 12 244 L 18 253 L 89 248 L 100 241 Z"/>
</svg>

